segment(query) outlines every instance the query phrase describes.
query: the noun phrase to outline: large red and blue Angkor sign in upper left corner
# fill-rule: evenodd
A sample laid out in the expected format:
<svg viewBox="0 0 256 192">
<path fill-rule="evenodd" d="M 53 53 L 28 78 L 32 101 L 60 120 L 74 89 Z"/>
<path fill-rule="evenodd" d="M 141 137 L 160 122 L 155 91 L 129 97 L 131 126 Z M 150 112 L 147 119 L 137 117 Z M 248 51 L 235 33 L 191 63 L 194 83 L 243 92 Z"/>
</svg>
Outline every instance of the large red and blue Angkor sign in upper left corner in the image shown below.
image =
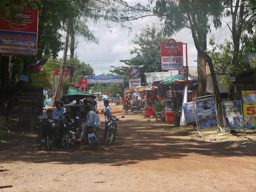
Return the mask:
<svg viewBox="0 0 256 192">
<path fill-rule="evenodd" d="M 18 7 L 16 17 L 23 22 L 12 23 L 10 18 L 0 20 L 0 53 L 35 56 L 37 52 L 38 10 Z"/>
</svg>

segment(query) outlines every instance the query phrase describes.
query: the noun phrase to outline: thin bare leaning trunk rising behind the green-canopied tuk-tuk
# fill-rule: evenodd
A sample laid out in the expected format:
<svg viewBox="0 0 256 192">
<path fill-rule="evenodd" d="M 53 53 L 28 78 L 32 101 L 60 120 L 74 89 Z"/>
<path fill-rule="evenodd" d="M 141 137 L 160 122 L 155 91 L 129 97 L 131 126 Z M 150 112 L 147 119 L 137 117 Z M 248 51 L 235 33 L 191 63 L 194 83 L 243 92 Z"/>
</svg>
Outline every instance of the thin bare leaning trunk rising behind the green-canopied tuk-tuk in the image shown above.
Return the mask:
<svg viewBox="0 0 256 192">
<path fill-rule="evenodd" d="M 65 64 L 67 60 L 67 54 L 68 54 L 68 47 L 69 47 L 69 19 L 67 19 L 67 34 L 66 34 L 66 41 L 65 41 L 65 47 L 64 47 L 64 53 L 61 61 L 61 67 L 60 67 L 60 72 L 59 72 L 59 80 L 55 92 L 55 97 L 52 102 L 52 106 L 55 106 L 56 101 L 59 101 L 60 99 L 60 90 L 62 87 L 62 81 L 63 81 L 63 74 L 64 74 L 64 69 L 65 69 Z"/>
</svg>

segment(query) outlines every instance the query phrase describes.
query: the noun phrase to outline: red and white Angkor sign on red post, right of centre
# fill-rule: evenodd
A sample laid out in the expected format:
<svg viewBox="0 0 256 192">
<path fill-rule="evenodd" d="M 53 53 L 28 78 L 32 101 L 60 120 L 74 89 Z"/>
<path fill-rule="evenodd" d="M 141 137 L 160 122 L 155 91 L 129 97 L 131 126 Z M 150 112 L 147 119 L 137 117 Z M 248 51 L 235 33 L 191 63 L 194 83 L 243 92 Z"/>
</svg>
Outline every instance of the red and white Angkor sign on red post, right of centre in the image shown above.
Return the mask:
<svg viewBox="0 0 256 192">
<path fill-rule="evenodd" d="M 169 39 L 161 43 L 161 68 L 162 70 L 183 69 L 183 42 Z"/>
</svg>

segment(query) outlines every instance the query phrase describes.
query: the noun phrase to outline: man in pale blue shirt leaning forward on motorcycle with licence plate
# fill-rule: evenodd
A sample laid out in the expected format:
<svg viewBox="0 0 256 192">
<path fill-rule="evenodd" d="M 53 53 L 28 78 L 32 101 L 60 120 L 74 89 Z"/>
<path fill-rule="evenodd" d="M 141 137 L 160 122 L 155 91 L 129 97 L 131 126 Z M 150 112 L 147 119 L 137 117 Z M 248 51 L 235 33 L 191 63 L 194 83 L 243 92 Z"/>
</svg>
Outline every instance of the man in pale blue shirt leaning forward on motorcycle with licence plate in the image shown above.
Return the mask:
<svg viewBox="0 0 256 192">
<path fill-rule="evenodd" d="M 100 119 L 97 113 L 91 111 L 91 106 L 84 105 L 83 106 L 83 113 L 87 116 L 86 121 L 82 121 L 82 130 L 81 130 L 81 137 L 77 139 L 78 142 L 84 142 L 86 138 L 86 129 L 87 126 L 94 126 L 95 129 L 100 129 Z"/>
</svg>

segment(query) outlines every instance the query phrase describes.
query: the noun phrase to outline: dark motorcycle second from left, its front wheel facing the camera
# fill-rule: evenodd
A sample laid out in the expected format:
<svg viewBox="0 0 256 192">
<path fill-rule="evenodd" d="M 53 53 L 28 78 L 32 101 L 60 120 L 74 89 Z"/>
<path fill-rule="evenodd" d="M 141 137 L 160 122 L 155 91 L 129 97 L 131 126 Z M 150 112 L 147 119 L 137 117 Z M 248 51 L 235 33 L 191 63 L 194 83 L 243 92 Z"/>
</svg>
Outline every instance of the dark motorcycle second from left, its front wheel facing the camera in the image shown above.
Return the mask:
<svg viewBox="0 0 256 192">
<path fill-rule="evenodd" d="M 63 148 L 70 148 L 74 145 L 77 138 L 77 130 L 74 119 L 69 117 L 66 112 L 62 117 L 62 127 L 60 133 L 60 144 Z"/>
</svg>

